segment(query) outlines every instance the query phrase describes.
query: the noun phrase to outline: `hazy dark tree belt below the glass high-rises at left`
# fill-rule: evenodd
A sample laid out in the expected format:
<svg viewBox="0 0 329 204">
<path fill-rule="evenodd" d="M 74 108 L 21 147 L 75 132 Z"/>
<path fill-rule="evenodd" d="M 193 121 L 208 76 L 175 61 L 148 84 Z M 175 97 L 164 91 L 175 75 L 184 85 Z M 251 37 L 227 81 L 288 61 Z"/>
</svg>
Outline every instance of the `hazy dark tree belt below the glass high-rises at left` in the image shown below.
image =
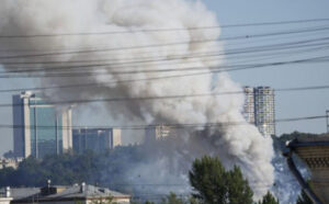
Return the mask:
<svg viewBox="0 0 329 204">
<path fill-rule="evenodd" d="M 132 169 L 138 162 L 140 147 L 118 147 L 101 155 L 86 151 L 47 156 L 43 160 L 33 157 L 24 159 L 16 170 L 0 170 L 0 186 L 42 186 L 47 180 L 53 184 L 68 185 L 81 182 L 102 186 L 122 183 L 122 169 Z M 115 177 L 113 177 L 115 175 Z M 110 183 L 111 182 L 111 183 Z"/>
</svg>

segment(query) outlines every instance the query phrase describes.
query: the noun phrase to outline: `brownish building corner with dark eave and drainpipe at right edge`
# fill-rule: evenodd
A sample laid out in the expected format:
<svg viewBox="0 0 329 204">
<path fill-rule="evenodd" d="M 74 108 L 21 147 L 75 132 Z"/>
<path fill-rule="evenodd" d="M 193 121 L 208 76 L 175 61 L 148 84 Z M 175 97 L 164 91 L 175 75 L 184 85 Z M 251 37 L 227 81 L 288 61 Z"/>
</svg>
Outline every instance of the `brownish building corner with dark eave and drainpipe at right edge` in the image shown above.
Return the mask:
<svg viewBox="0 0 329 204">
<path fill-rule="evenodd" d="M 329 203 L 329 135 L 321 137 L 294 139 L 287 144 L 290 152 L 285 154 L 288 165 L 304 191 L 314 203 Z M 310 186 L 293 163 L 292 154 L 296 154 L 309 168 Z"/>
</svg>

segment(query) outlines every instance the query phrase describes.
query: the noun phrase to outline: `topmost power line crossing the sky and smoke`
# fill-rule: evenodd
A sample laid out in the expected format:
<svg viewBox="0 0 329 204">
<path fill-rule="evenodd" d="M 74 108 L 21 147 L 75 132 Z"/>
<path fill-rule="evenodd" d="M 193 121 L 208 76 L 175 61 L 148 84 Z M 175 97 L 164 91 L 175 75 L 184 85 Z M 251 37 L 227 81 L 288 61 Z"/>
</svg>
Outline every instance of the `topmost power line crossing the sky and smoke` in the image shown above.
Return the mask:
<svg viewBox="0 0 329 204">
<path fill-rule="evenodd" d="M 80 33 L 56 33 L 56 34 L 32 34 L 32 35 L 0 35 L 0 38 L 32 38 L 32 37 L 56 37 L 56 36 L 76 36 L 76 35 L 112 35 L 112 34 L 125 34 L 125 33 L 172 32 L 172 31 L 212 30 L 212 29 L 223 29 L 223 27 L 300 24 L 300 23 L 327 22 L 327 21 L 329 21 L 329 19 L 306 19 L 306 20 L 294 20 L 294 21 L 272 21 L 272 22 L 260 22 L 260 23 L 224 24 L 224 25 L 194 26 L 194 27 L 148 29 L 148 30 L 107 31 L 107 32 L 80 32 Z"/>
</svg>

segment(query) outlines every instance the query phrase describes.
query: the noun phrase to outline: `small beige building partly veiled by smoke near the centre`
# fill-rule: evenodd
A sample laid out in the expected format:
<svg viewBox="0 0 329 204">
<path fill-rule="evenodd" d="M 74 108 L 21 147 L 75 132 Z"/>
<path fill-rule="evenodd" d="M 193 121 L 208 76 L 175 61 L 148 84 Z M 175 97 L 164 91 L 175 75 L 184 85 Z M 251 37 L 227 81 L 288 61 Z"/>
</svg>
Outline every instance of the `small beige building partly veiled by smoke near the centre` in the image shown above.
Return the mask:
<svg viewBox="0 0 329 204">
<path fill-rule="evenodd" d="M 145 129 L 145 141 L 162 139 L 172 134 L 172 129 L 167 125 L 148 126 Z"/>
</svg>

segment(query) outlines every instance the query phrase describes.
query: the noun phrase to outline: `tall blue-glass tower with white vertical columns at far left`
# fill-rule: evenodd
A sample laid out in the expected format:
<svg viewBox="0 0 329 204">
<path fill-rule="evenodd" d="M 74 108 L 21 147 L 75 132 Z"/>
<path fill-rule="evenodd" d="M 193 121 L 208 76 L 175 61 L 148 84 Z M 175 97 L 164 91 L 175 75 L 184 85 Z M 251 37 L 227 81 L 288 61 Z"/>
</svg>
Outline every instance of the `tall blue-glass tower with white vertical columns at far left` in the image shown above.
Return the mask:
<svg viewBox="0 0 329 204">
<path fill-rule="evenodd" d="M 43 158 L 72 148 L 71 110 L 58 111 L 29 91 L 12 100 L 15 157 Z"/>
</svg>

